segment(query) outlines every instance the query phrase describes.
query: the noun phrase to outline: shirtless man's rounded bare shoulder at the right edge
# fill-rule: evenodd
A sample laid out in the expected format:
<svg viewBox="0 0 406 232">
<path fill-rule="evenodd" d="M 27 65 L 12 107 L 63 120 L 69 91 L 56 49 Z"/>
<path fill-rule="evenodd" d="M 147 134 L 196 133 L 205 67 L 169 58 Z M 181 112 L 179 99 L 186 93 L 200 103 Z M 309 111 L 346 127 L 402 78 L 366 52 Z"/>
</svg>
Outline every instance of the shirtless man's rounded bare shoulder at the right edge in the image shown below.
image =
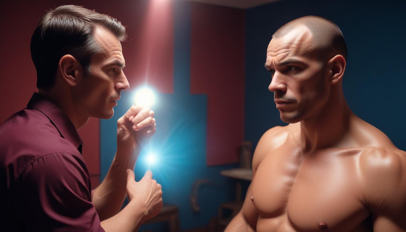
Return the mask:
<svg viewBox="0 0 406 232">
<path fill-rule="evenodd" d="M 406 152 L 368 147 L 359 156 L 361 185 L 371 210 L 406 210 Z"/>
</svg>

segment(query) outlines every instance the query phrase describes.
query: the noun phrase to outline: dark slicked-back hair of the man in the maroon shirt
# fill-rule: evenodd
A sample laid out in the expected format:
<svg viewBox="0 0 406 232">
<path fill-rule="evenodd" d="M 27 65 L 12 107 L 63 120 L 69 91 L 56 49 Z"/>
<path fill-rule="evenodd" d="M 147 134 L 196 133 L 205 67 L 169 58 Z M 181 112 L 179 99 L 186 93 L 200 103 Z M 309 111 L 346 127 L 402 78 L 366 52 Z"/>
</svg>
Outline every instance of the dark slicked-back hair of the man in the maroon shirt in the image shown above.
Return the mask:
<svg viewBox="0 0 406 232">
<path fill-rule="evenodd" d="M 64 5 L 45 11 L 31 37 L 31 58 L 37 69 L 37 88 L 50 90 L 56 82 L 60 58 L 66 54 L 90 74 L 93 54 L 102 51 L 93 37 L 96 26 L 113 33 L 119 41 L 127 38 L 125 27 L 117 19 L 84 7 Z"/>
</svg>

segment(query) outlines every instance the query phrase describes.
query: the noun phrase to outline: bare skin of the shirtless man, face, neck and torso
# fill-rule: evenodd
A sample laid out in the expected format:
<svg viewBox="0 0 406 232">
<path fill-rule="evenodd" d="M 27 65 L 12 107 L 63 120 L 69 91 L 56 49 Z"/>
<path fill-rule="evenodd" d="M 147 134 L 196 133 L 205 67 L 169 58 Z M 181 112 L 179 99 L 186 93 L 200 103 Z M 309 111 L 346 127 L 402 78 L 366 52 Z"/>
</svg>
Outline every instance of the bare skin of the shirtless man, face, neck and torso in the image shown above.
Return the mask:
<svg viewBox="0 0 406 232">
<path fill-rule="evenodd" d="M 320 59 L 317 46 L 300 24 L 269 43 L 269 90 L 289 125 L 261 137 L 227 232 L 406 231 L 406 152 L 352 113 L 346 59 Z"/>
</svg>

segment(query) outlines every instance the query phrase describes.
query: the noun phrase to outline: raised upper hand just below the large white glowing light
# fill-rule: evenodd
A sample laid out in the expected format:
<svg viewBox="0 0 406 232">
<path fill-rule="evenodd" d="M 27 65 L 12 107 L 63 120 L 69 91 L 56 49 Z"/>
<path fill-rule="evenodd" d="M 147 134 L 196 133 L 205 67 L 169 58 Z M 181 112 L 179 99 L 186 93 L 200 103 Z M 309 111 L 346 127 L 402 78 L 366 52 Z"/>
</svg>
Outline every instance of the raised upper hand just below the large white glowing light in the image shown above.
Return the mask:
<svg viewBox="0 0 406 232">
<path fill-rule="evenodd" d="M 154 112 L 149 108 L 132 105 L 117 120 L 117 151 L 125 154 L 140 152 L 140 147 L 155 134 Z"/>
</svg>

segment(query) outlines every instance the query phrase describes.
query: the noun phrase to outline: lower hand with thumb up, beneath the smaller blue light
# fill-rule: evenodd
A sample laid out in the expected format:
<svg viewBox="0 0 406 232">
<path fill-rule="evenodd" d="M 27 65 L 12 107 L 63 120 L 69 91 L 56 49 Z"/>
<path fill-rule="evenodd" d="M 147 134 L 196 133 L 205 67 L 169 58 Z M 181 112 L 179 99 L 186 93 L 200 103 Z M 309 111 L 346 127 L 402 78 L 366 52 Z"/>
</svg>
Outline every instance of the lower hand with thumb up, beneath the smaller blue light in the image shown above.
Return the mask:
<svg viewBox="0 0 406 232">
<path fill-rule="evenodd" d="M 127 196 L 130 204 L 136 204 L 145 211 L 145 220 L 155 217 L 162 208 L 161 185 L 152 179 L 152 172 L 147 171 L 144 177 L 136 182 L 134 171 L 127 169 Z"/>
</svg>

